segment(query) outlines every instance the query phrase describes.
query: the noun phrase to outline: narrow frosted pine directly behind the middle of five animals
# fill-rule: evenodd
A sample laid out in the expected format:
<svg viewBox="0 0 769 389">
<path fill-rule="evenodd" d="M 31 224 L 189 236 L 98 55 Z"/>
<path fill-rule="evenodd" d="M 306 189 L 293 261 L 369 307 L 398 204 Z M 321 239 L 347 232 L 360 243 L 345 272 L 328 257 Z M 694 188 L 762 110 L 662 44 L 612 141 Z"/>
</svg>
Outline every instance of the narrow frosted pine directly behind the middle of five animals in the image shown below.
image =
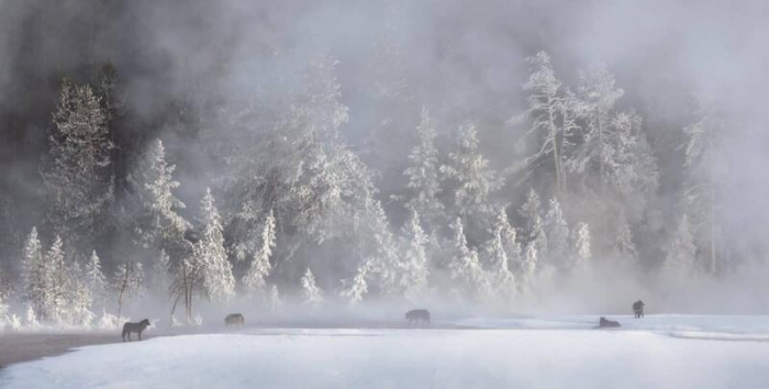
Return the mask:
<svg viewBox="0 0 769 389">
<path fill-rule="evenodd" d="M 404 297 L 408 300 L 419 300 L 427 291 L 427 235 L 422 230 L 420 214 L 412 212 L 411 218 L 402 229 L 403 246 L 403 277 L 401 278 Z"/>
</svg>

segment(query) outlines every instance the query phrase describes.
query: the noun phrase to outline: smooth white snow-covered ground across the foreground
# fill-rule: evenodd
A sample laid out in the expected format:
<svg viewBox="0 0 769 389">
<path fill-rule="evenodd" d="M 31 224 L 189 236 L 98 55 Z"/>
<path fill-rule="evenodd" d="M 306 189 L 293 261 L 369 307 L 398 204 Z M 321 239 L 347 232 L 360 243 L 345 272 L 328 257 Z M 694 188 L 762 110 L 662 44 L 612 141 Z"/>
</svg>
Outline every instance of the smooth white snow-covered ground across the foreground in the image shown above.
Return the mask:
<svg viewBox="0 0 769 389">
<path fill-rule="evenodd" d="M 13 365 L 0 371 L 0 386 L 624 389 L 769 382 L 769 343 L 762 341 L 769 318 L 621 318 L 625 327 L 618 331 L 591 330 L 594 320 L 588 319 L 594 316 L 460 321 L 483 326 L 466 330 L 258 329 L 156 337 Z M 735 336 L 744 342 L 732 342 Z"/>
</svg>

